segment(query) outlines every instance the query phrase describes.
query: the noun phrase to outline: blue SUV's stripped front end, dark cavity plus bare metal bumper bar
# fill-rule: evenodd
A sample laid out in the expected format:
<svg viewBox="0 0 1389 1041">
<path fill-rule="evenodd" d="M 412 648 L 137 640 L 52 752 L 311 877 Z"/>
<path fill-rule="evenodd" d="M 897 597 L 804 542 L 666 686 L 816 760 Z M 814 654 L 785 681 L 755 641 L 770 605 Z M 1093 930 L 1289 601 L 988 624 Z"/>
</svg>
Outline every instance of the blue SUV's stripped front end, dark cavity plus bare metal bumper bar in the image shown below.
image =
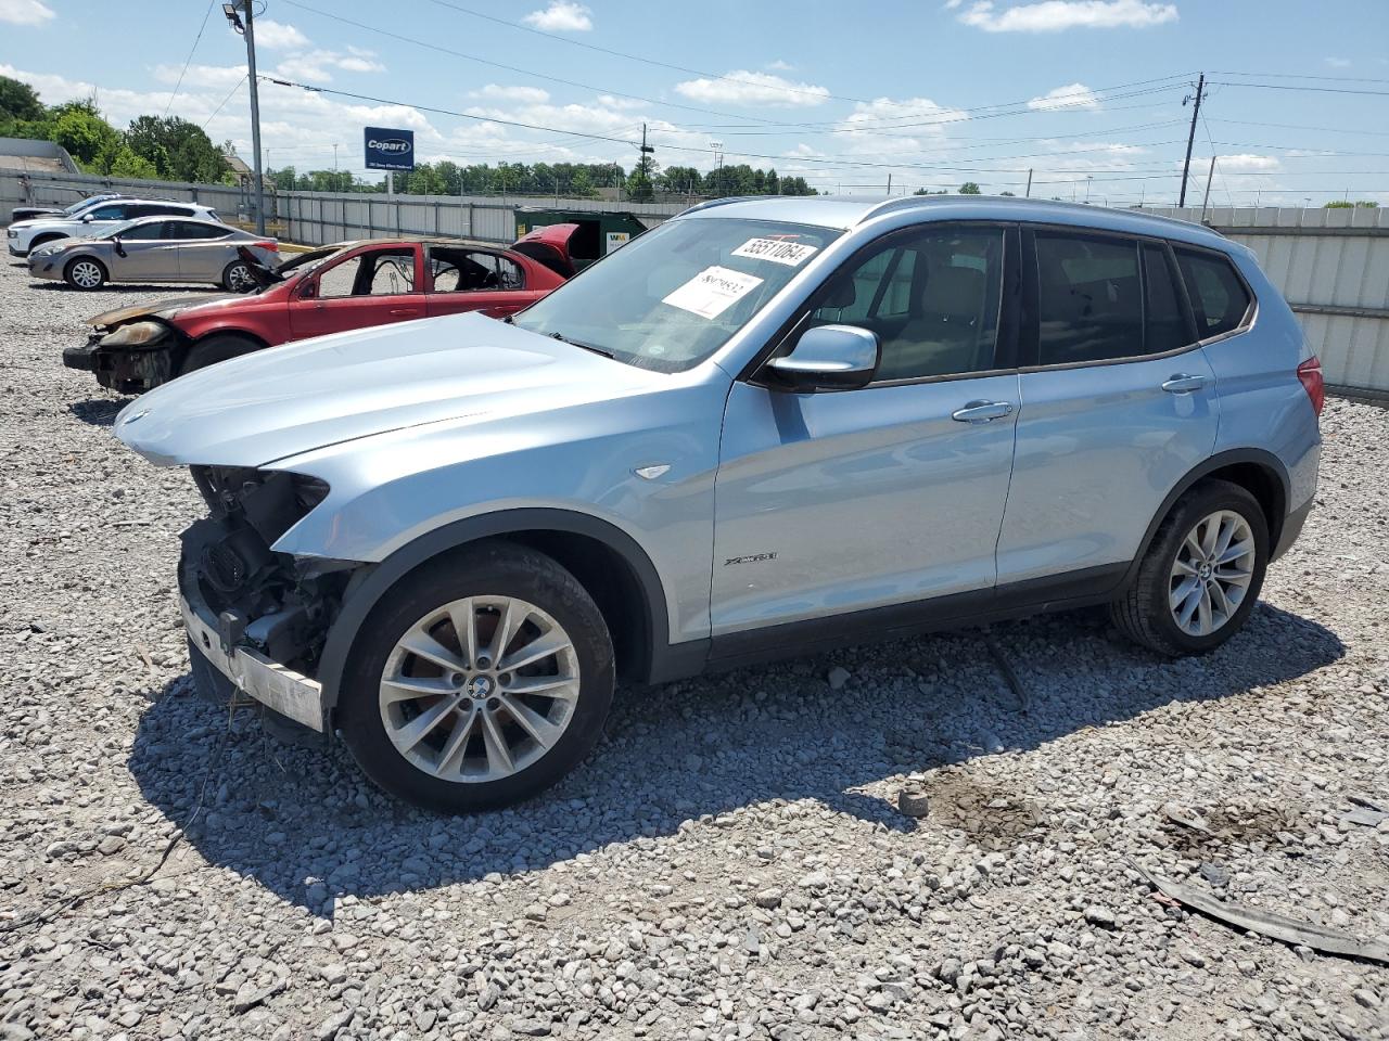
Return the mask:
<svg viewBox="0 0 1389 1041">
<path fill-rule="evenodd" d="M 183 536 L 179 591 L 189 640 L 232 684 L 274 712 L 328 729 L 318 658 L 356 561 L 271 547 L 328 496 L 315 477 L 193 466 L 210 516 Z"/>
</svg>

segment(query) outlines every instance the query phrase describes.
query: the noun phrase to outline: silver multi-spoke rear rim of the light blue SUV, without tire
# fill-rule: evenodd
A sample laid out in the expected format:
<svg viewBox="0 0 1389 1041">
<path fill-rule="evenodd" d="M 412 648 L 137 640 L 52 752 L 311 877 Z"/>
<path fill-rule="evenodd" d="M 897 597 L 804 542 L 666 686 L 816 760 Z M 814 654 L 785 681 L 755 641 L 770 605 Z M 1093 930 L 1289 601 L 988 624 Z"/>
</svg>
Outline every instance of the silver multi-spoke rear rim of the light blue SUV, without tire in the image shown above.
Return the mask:
<svg viewBox="0 0 1389 1041">
<path fill-rule="evenodd" d="M 1172 619 L 1188 636 L 1210 636 L 1229 623 L 1254 577 L 1249 522 L 1232 509 L 1210 514 L 1176 550 L 1168 589 Z"/>
</svg>

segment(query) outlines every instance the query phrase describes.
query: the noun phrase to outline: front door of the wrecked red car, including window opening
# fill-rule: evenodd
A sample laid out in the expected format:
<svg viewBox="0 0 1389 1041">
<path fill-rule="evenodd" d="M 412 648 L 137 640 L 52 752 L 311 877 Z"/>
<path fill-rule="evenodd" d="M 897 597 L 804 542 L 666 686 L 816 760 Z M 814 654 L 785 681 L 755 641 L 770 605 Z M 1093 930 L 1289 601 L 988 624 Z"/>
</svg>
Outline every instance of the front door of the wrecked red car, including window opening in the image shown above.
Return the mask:
<svg viewBox="0 0 1389 1041">
<path fill-rule="evenodd" d="M 363 246 L 304 279 L 289 304 L 293 339 L 425 316 L 419 247 Z"/>
</svg>

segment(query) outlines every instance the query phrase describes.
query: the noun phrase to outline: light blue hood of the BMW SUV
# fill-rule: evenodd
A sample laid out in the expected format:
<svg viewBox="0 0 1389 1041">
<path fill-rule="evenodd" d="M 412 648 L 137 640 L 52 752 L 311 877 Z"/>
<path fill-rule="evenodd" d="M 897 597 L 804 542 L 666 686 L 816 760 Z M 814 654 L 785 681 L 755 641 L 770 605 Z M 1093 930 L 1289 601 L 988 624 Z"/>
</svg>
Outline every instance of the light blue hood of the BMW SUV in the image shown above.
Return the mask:
<svg viewBox="0 0 1389 1041">
<path fill-rule="evenodd" d="M 192 372 L 126 405 L 115 436 L 164 466 L 265 466 L 358 437 L 561 408 L 660 379 L 492 318 L 450 315 Z"/>
</svg>

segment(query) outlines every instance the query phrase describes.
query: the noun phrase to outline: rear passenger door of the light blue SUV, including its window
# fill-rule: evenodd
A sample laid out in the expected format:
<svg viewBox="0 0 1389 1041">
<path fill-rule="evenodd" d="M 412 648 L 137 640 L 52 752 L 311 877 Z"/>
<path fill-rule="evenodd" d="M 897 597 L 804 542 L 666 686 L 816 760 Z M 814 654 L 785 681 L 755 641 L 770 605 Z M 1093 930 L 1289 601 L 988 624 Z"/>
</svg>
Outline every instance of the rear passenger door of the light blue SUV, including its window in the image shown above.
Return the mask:
<svg viewBox="0 0 1389 1041">
<path fill-rule="evenodd" d="M 1039 228 L 1024 255 L 1031 364 L 999 584 L 1081 572 L 1103 587 L 1211 454 L 1215 376 L 1164 242 Z"/>
</svg>

